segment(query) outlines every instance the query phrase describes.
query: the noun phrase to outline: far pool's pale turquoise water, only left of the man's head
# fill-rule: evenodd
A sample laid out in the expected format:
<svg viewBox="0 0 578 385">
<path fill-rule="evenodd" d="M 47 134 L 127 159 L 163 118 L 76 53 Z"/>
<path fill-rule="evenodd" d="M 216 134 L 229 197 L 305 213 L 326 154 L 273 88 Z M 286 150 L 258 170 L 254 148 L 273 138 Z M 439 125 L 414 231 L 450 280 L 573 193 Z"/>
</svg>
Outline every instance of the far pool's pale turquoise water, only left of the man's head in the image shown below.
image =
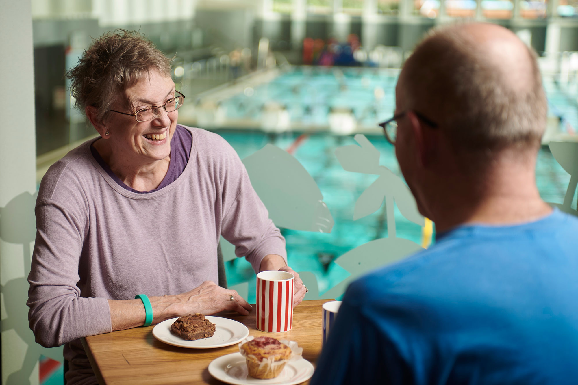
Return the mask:
<svg viewBox="0 0 578 385">
<path fill-rule="evenodd" d="M 292 123 L 327 125 L 329 109 L 352 109 L 360 125 L 373 125 L 391 115 L 395 106 L 397 70 L 370 68 L 294 67 L 271 82 L 224 101 L 231 119 L 260 119 L 266 102 L 277 102 Z M 375 97 L 375 89 L 377 98 Z"/>
</svg>

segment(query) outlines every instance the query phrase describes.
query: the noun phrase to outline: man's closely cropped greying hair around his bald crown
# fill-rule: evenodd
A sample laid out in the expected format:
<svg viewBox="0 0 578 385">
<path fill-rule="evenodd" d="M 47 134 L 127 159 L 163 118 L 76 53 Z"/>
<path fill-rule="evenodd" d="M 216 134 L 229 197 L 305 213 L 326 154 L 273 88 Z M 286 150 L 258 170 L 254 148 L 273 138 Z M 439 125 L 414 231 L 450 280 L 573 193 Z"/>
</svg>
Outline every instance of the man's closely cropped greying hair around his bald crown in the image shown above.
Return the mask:
<svg viewBox="0 0 578 385">
<path fill-rule="evenodd" d="M 520 45 L 517 62 L 526 62 L 516 74 L 516 63 L 488 57 L 460 28 L 433 29 L 403 68 L 409 108 L 435 112 L 458 150 L 537 149 L 547 100 L 536 54 Z"/>
</svg>

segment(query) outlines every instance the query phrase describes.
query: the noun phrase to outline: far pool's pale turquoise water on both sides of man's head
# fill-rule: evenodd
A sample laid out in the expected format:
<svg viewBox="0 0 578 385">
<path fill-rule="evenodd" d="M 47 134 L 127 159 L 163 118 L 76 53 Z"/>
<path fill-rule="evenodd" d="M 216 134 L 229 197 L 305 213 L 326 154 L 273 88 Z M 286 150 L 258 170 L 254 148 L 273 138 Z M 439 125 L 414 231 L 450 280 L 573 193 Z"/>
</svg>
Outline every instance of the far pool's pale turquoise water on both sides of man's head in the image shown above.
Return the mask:
<svg viewBox="0 0 578 385">
<path fill-rule="evenodd" d="M 266 103 L 287 109 L 292 124 L 328 125 L 331 109 L 351 109 L 358 127 L 376 127 L 395 109 L 399 70 L 294 66 L 270 82 L 247 87 L 223 101 L 228 119 L 261 121 Z M 258 82 L 255 82 L 258 84 Z M 558 117 L 561 132 L 578 131 L 578 84 L 560 84 L 544 76 L 550 116 Z M 255 125 L 258 127 L 258 125 Z"/>
</svg>

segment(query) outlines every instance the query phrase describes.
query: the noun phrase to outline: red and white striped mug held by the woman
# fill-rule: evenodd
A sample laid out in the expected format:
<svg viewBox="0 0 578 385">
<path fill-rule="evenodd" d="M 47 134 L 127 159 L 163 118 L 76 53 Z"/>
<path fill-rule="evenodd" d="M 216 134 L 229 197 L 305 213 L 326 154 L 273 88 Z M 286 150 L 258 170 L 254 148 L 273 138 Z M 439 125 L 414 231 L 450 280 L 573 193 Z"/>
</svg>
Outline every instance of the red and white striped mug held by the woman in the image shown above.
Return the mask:
<svg viewBox="0 0 578 385">
<path fill-rule="evenodd" d="M 293 326 L 293 284 L 295 276 L 286 271 L 257 274 L 257 329 L 286 332 Z"/>
</svg>

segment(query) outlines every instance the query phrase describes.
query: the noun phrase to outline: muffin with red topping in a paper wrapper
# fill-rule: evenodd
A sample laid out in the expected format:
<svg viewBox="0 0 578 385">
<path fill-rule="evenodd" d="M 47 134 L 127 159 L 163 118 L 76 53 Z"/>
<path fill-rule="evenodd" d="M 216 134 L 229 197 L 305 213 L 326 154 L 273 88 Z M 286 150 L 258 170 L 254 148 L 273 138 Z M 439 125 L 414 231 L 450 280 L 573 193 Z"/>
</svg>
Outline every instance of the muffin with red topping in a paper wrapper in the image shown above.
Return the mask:
<svg viewBox="0 0 578 385">
<path fill-rule="evenodd" d="M 279 376 L 287 360 L 291 358 L 291 348 L 271 337 L 257 337 L 240 346 L 247 360 L 249 375 L 258 379 Z"/>
</svg>

